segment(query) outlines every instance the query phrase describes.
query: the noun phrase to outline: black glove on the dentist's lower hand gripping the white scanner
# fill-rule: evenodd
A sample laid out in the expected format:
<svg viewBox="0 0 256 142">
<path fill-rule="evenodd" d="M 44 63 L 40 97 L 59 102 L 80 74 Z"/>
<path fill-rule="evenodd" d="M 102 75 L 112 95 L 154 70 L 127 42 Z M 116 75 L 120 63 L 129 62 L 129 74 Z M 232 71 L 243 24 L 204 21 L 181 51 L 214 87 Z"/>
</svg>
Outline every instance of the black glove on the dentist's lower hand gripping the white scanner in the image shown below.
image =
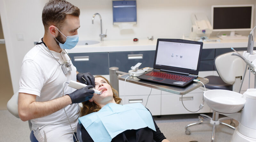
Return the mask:
<svg viewBox="0 0 256 142">
<path fill-rule="evenodd" d="M 90 88 L 93 88 L 92 85 L 88 85 L 82 89 L 78 89 L 70 94 L 67 94 L 73 103 L 82 103 L 85 101 L 88 101 L 92 98 L 94 90 L 91 90 Z"/>
</svg>

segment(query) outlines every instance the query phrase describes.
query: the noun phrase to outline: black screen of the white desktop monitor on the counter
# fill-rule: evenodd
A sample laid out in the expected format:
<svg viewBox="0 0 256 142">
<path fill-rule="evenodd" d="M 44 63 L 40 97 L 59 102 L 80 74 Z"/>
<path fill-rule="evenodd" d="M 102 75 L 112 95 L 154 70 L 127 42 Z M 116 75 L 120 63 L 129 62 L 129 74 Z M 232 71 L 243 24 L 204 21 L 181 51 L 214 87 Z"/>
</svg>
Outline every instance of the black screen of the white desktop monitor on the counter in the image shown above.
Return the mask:
<svg viewBox="0 0 256 142">
<path fill-rule="evenodd" d="M 252 7 L 214 7 L 213 29 L 251 28 Z"/>
</svg>

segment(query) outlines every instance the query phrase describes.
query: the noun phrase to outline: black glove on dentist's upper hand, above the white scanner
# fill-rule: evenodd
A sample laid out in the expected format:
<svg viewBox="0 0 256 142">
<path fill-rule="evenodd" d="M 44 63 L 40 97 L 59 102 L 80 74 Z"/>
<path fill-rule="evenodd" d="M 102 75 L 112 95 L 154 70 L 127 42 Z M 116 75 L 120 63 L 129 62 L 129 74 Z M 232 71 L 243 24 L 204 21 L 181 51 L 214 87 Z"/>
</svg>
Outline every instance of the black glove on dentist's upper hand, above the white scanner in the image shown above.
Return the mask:
<svg viewBox="0 0 256 142">
<path fill-rule="evenodd" d="M 84 81 L 84 79 L 86 81 Z M 95 79 L 94 79 L 94 76 L 91 74 L 91 73 L 78 73 L 76 75 L 76 79 L 81 82 L 81 83 L 84 83 L 86 85 L 92 85 L 93 87 L 95 87 Z"/>
</svg>

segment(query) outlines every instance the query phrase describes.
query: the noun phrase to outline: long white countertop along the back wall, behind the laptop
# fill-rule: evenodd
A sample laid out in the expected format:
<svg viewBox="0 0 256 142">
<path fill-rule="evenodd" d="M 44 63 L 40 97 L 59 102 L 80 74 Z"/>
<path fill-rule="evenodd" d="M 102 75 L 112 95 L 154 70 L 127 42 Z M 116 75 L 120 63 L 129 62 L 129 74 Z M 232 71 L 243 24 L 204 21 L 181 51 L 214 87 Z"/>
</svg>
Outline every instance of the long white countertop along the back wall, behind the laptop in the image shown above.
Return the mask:
<svg viewBox="0 0 256 142">
<path fill-rule="evenodd" d="M 217 39 L 217 38 L 211 38 Z M 189 39 L 188 39 L 189 40 Z M 93 45 L 77 45 L 68 53 L 97 53 L 97 52 L 124 52 L 124 51 L 153 51 L 156 50 L 157 39 L 131 40 L 105 40 Z M 236 48 L 247 47 L 248 39 L 245 40 L 220 40 L 220 42 L 204 42 L 203 49 L 211 48 Z"/>
</svg>

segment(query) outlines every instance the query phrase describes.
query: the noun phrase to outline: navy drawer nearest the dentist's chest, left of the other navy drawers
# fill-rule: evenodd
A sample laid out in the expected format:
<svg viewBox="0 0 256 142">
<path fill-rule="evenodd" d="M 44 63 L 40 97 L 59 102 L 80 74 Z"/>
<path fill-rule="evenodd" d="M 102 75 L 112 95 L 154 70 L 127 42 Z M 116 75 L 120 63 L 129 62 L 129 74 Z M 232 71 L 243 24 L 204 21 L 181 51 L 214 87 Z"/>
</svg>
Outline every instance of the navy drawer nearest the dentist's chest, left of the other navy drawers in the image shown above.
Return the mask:
<svg viewBox="0 0 256 142">
<path fill-rule="evenodd" d="M 109 75 L 108 53 L 70 53 L 69 56 L 78 72 Z"/>
</svg>

